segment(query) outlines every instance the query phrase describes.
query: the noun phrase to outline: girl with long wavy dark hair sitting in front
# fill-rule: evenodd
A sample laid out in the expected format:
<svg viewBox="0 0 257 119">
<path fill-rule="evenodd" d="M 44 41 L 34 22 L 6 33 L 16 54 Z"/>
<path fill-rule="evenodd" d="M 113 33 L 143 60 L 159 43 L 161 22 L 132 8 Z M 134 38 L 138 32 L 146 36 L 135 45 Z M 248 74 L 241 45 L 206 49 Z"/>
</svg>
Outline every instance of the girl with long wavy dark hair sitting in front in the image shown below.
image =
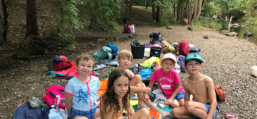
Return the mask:
<svg viewBox="0 0 257 119">
<path fill-rule="evenodd" d="M 129 75 L 121 69 L 114 69 L 111 72 L 106 92 L 101 99 L 103 99 L 100 105 L 101 119 L 123 119 L 123 109 L 129 113 L 129 119 L 149 118 L 148 109 L 142 108 L 135 113 L 130 106 Z"/>
</svg>

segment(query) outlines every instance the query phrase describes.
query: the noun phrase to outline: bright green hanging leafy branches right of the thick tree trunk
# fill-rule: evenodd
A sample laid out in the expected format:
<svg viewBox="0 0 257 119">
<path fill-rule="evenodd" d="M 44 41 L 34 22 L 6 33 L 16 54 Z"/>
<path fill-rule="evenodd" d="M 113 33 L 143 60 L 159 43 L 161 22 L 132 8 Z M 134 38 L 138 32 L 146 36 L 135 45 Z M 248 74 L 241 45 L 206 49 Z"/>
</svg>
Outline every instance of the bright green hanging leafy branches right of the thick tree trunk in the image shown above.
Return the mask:
<svg viewBox="0 0 257 119">
<path fill-rule="evenodd" d="M 77 4 L 84 4 L 81 0 L 54 0 L 54 15 L 57 20 L 56 36 L 62 41 L 72 41 L 75 38 L 73 29 L 84 28 L 79 24 Z"/>
</svg>

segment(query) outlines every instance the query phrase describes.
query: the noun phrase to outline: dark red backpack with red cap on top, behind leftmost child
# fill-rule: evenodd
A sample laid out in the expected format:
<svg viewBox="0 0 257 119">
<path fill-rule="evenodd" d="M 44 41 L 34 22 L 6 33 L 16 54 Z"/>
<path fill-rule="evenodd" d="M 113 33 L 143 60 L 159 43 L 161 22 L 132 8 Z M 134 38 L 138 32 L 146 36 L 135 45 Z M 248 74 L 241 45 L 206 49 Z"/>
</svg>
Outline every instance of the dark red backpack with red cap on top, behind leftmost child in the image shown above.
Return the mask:
<svg viewBox="0 0 257 119">
<path fill-rule="evenodd" d="M 55 60 L 58 62 L 56 62 Z M 58 57 L 53 57 L 53 59 L 50 59 L 48 61 L 48 71 L 62 71 L 67 70 L 71 67 L 76 68 L 76 64 L 74 61 L 68 61 L 67 59 L 65 59 L 65 61 L 62 61 Z"/>
</svg>

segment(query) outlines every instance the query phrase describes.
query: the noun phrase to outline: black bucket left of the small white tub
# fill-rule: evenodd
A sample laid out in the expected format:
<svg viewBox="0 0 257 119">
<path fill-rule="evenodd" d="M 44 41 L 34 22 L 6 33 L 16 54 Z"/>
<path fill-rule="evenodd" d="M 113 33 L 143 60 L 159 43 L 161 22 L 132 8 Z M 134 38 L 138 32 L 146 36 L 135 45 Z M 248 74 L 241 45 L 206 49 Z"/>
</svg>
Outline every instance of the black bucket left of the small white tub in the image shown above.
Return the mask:
<svg viewBox="0 0 257 119">
<path fill-rule="evenodd" d="M 144 57 L 144 52 L 145 52 L 144 45 L 140 45 L 140 46 L 132 46 L 131 45 L 131 53 L 133 55 L 133 58 L 142 59 Z"/>
</svg>

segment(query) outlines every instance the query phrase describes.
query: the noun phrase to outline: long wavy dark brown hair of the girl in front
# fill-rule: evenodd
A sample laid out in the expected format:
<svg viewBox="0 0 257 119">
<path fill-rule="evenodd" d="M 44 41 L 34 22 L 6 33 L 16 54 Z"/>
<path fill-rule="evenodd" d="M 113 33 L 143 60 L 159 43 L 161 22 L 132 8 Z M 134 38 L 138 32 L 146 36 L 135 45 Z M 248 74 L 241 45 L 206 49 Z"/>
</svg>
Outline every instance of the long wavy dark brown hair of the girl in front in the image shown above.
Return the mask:
<svg viewBox="0 0 257 119">
<path fill-rule="evenodd" d="M 121 76 L 124 76 L 129 79 L 129 75 L 127 74 L 127 72 L 121 69 L 114 69 L 108 78 L 106 91 L 101 97 L 101 100 L 103 100 L 104 102 L 104 110 L 106 113 L 111 112 L 112 110 L 117 112 L 120 111 L 120 102 L 118 100 L 118 96 L 114 92 L 113 84 L 114 84 L 114 81 L 116 81 Z M 129 103 L 129 100 L 130 100 L 130 87 L 128 86 L 128 91 L 122 97 L 122 104 L 125 110 L 129 108 L 129 105 L 127 105 Z M 103 102 L 101 101 L 101 103 Z M 108 105 L 110 106 L 110 108 L 108 111 L 106 111 L 106 108 L 108 107 Z"/>
</svg>

